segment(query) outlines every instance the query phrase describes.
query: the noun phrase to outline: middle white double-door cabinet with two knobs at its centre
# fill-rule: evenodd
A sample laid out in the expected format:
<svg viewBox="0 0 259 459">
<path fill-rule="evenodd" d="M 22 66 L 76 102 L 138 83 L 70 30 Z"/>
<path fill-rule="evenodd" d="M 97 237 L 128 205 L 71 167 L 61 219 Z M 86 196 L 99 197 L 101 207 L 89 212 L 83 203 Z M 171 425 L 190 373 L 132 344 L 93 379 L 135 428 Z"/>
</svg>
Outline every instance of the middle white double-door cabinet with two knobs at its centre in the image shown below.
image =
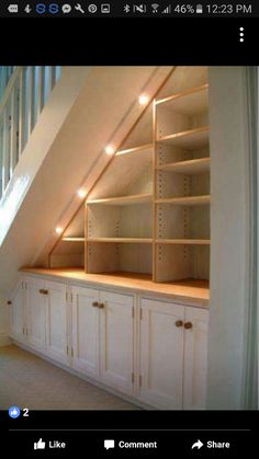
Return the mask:
<svg viewBox="0 0 259 459">
<path fill-rule="evenodd" d="M 72 366 L 133 392 L 133 297 L 72 287 Z"/>
</svg>

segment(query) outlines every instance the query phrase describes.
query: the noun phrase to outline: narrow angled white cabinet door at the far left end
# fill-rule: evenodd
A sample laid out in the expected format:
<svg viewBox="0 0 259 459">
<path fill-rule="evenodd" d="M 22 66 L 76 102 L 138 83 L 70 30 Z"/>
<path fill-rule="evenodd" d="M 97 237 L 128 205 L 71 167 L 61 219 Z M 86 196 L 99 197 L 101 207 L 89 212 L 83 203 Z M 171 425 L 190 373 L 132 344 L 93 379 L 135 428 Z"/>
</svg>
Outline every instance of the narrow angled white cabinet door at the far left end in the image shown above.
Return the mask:
<svg viewBox="0 0 259 459">
<path fill-rule="evenodd" d="M 20 279 L 11 295 L 10 335 L 16 340 L 25 337 L 25 283 Z"/>
</svg>

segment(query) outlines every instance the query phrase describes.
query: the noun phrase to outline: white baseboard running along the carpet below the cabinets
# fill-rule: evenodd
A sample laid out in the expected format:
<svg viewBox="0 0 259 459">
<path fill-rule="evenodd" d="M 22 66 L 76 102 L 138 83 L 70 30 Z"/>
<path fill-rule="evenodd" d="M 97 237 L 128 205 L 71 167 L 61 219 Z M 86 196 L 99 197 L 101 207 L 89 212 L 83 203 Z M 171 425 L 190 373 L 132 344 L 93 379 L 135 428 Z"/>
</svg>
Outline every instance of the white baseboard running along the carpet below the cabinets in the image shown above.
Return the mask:
<svg viewBox="0 0 259 459">
<path fill-rule="evenodd" d="M 52 365 L 55 365 L 55 367 L 61 368 L 63 370 L 70 372 L 70 375 L 74 375 L 74 376 L 77 376 L 80 379 L 83 379 L 83 381 L 87 381 L 90 385 L 98 387 L 99 389 L 105 390 L 105 392 L 109 392 L 113 395 L 120 397 L 120 399 L 123 399 L 128 403 L 132 403 L 132 404 L 134 404 L 138 408 L 142 408 L 143 410 L 157 410 L 156 408 L 153 408 L 153 406 L 135 399 L 134 397 L 125 395 L 124 393 L 117 391 L 116 389 L 112 389 L 109 386 L 106 386 L 106 385 L 104 385 L 104 383 L 102 383 L 102 382 L 100 382 L 95 379 L 92 379 L 92 378 L 81 374 L 80 371 L 75 370 L 74 368 L 71 368 L 69 366 L 67 366 L 65 364 L 61 364 L 60 362 L 54 360 L 52 357 L 41 353 L 40 351 L 36 351 L 36 349 L 27 346 L 24 343 L 21 343 L 20 341 L 16 341 L 14 337 L 11 338 L 11 342 L 13 344 L 15 344 L 18 347 L 21 347 L 22 349 L 27 351 L 27 352 L 36 355 L 37 357 L 43 358 L 44 360 L 48 362 Z"/>
</svg>

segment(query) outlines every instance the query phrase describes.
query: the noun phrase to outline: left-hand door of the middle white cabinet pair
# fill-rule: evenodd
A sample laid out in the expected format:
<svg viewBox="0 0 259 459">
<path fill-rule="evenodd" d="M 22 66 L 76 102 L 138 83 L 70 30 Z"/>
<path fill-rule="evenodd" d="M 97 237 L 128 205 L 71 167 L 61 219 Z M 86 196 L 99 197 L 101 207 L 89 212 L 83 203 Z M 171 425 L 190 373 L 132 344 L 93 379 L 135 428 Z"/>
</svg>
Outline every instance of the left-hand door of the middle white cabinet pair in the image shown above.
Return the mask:
<svg viewBox="0 0 259 459">
<path fill-rule="evenodd" d="M 72 366 L 99 376 L 99 290 L 72 287 Z"/>
</svg>

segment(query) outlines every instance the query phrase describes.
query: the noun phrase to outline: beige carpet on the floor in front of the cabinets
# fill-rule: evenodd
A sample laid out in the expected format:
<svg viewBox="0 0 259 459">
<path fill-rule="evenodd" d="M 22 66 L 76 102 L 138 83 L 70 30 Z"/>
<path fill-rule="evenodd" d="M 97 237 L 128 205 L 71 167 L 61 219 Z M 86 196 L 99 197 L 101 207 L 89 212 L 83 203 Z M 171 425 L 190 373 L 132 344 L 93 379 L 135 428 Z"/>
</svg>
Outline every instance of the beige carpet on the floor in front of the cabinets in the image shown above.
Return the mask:
<svg viewBox="0 0 259 459">
<path fill-rule="evenodd" d="M 18 346 L 0 347 L 0 410 L 138 410 Z"/>
</svg>

